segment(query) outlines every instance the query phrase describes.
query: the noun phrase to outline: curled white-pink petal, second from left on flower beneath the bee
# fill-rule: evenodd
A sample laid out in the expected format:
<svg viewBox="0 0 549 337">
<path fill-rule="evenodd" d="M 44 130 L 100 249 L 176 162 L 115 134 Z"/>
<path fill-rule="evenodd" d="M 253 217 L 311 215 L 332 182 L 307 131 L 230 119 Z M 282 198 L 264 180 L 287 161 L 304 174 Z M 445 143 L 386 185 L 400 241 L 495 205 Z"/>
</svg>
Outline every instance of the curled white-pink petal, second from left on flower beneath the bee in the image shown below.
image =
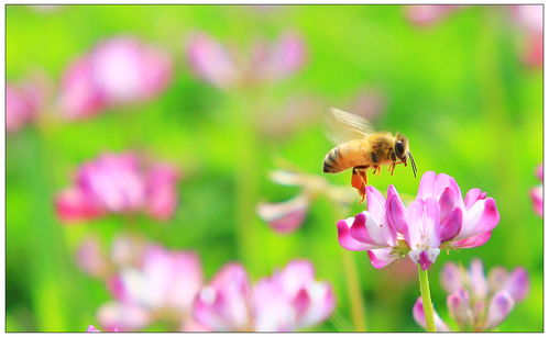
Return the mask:
<svg viewBox="0 0 549 337">
<path fill-rule="evenodd" d="M 378 223 L 369 211 L 356 214 L 351 226 L 351 236 L 373 249 L 392 247 L 396 243 L 396 232 L 387 224 Z"/>
</svg>

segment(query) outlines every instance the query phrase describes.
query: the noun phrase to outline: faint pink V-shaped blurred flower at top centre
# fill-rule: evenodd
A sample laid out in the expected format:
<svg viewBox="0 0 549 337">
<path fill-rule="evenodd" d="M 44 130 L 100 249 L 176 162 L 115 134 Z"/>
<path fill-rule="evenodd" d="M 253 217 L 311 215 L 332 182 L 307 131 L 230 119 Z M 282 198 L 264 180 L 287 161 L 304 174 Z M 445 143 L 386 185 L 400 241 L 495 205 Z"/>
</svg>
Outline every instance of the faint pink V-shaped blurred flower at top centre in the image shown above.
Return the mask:
<svg viewBox="0 0 549 337">
<path fill-rule="evenodd" d="M 224 89 L 278 81 L 299 70 L 306 58 L 305 44 L 295 33 L 285 33 L 272 44 L 259 41 L 241 55 L 205 33 L 195 33 L 187 41 L 186 54 L 198 77 Z"/>
</svg>

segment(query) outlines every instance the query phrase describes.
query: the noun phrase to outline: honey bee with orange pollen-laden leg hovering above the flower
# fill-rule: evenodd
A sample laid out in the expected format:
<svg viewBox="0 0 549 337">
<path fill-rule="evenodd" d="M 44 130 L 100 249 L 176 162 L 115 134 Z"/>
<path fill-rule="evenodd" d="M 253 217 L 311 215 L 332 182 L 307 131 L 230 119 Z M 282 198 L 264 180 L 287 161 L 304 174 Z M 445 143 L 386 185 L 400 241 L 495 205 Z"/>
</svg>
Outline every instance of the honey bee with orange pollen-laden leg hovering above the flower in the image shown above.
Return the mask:
<svg viewBox="0 0 549 337">
<path fill-rule="evenodd" d="M 332 119 L 329 125 L 336 144 L 325 157 L 323 172 L 337 173 L 349 168 L 353 169 L 351 186 L 355 188 L 364 200 L 366 193 L 366 170 L 373 169 L 373 173 L 380 175 L 381 167 L 388 165 L 388 171 L 393 176 L 395 166 L 404 164 L 407 166 L 408 158 L 411 162 L 414 177 L 417 168 L 409 149 L 409 142 L 403 134 L 382 131 L 374 132 L 366 119 L 355 114 L 332 108 Z"/>
</svg>

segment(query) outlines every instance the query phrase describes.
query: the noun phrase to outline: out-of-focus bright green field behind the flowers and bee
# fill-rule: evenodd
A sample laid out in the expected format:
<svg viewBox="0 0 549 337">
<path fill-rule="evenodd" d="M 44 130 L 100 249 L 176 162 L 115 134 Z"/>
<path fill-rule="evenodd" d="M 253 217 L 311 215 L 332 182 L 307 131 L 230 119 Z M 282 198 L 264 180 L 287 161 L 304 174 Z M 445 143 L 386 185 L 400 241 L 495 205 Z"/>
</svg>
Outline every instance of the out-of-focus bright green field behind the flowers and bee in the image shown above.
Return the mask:
<svg viewBox="0 0 549 337">
<path fill-rule="evenodd" d="M 132 34 L 169 50 L 171 85 L 157 99 L 123 111 L 107 111 L 74 123 L 28 126 L 7 141 L 7 329 L 9 332 L 85 330 L 97 324 L 97 308 L 110 299 L 105 285 L 75 263 L 77 244 L 98 234 L 105 246 L 121 226 L 117 216 L 66 226 L 55 216 L 55 193 L 70 183 L 85 160 L 106 150 L 146 149 L 183 168 L 175 216 L 157 224 L 145 216 L 140 231 L 171 248 L 196 250 L 207 278 L 235 260 L 254 280 L 294 258 L 307 258 L 319 279 L 336 290 L 334 318 L 310 330 L 337 332 L 352 326 L 341 268 L 337 216 L 318 199 L 295 233 L 274 233 L 251 212 L 251 240 L 240 247 L 234 212 L 235 149 L 246 135 L 235 134 L 239 114 L 231 92 L 194 76 L 184 42 L 204 31 L 223 43 L 245 45 L 292 30 L 305 38 L 308 58 L 288 79 L 264 88 L 271 117 L 294 98 L 321 98 L 318 111 L 284 136 L 256 131 L 250 176 L 259 198 L 283 201 L 296 188 L 268 179 L 276 158 L 306 172 L 321 172 L 332 144 L 323 115 L 331 105 L 347 108 L 362 88 L 383 92 L 386 105 L 374 124 L 410 139 L 419 177 L 428 170 L 455 178 L 462 192 L 481 188 L 497 202 L 499 225 L 479 248 L 441 254 L 429 271 L 431 296 L 448 318 L 439 276 L 444 262 L 469 266 L 480 257 L 485 268 L 523 266 L 530 293 L 498 328 L 542 329 L 542 221 L 532 212 L 529 189 L 542 160 L 542 71 L 519 58 L 520 32 L 503 7 L 471 7 L 429 27 L 416 27 L 400 5 L 290 5 L 256 10 L 246 5 L 67 5 L 39 12 L 7 7 L 7 80 L 42 68 L 59 78 L 67 64 L 98 41 Z M 250 102 L 252 104 L 252 102 Z M 245 108 L 244 108 L 245 109 Z M 257 114 L 264 113 L 259 110 Z M 263 119 L 261 115 L 257 116 Z M 240 143 L 239 143 L 240 142 Z M 327 177 L 349 186 L 350 172 Z M 409 168 L 385 169 L 370 183 L 385 193 L 393 183 L 415 194 L 419 178 Z M 349 187 L 351 189 L 351 187 Z M 259 200 L 256 200 L 259 201 Z M 255 201 L 254 201 L 255 202 Z M 360 212 L 356 205 L 353 212 Z M 353 213 L 354 214 L 354 213 Z M 353 214 L 349 214 L 351 216 Z M 251 254 L 252 252 L 252 254 Z M 363 252 L 348 252 L 359 270 L 366 325 L 371 332 L 420 332 L 411 317 L 419 295 L 417 274 L 398 273 L 405 261 L 376 270 Z M 402 269 L 402 268 L 400 268 Z M 413 269 L 414 270 L 414 269 Z"/>
</svg>

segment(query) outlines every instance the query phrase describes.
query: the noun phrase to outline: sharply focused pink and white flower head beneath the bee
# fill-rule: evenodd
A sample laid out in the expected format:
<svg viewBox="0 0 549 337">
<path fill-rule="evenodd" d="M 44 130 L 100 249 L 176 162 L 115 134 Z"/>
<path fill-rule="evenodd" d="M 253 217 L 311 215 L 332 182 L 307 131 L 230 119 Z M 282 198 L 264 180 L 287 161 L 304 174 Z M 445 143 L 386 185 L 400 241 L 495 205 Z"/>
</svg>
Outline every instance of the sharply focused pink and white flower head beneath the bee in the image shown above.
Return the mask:
<svg viewBox="0 0 549 337">
<path fill-rule="evenodd" d="M 499 222 L 492 198 L 471 189 L 462 198 L 455 180 L 428 171 L 421 177 L 416 199 L 406 207 L 394 186 L 385 199 L 366 188 L 367 211 L 338 222 L 340 245 L 365 250 L 375 268 L 383 268 L 406 254 L 427 270 L 443 248 L 484 245 Z"/>
</svg>

